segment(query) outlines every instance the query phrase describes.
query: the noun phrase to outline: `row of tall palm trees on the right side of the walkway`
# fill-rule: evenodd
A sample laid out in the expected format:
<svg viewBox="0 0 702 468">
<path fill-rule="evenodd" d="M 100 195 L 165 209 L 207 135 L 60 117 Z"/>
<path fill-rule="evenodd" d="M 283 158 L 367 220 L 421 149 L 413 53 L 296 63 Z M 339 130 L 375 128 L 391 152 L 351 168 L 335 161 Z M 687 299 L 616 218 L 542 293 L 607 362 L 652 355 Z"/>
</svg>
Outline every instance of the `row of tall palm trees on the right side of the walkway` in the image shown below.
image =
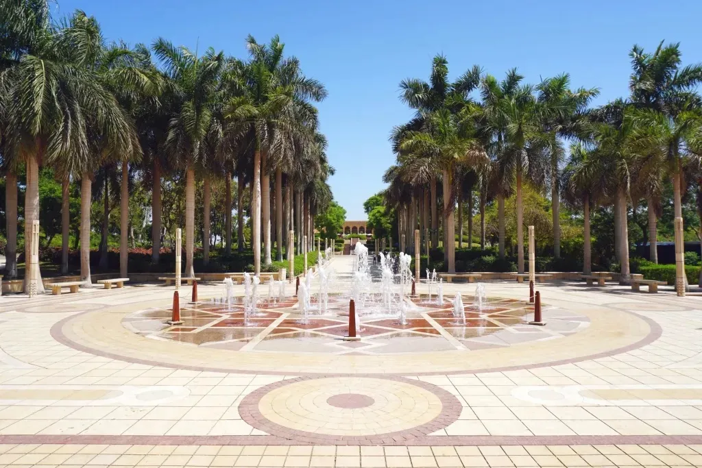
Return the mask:
<svg viewBox="0 0 702 468">
<path fill-rule="evenodd" d="M 532 86 L 516 69 L 499 81 L 475 66 L 451 82 L 442 55 L 434 58 L 428 82 L 402 81 L 400 99 L 416 114 L 393 129 L 390 140 L 397 163 L 385 173 L 389 184 L 385 195 L 390 206 L 397 208 L 400 238 L 411 239 L 419 228 L 431 233 L 426 239 L 431 246 L 439 246 L 440 222 L 447 269 L 455 272 L 453 213 L 458 203 L 462 229 L 464 198 L 469 198 L 472 218 L 477 191 L 481 246 L 485 244 L 484 206 L 496 199 L 498 251 L 504 258 L 505 197 L 514 194 L 517 269 L 523 273 L 522 185 L 528 181 L 550 188 L 555 258 L 561 255 L 563 195 L 571 208 L 584 212 L 586 273 L 591 265 L 593 206 L 614 210 L 616 258 L 626 280 L 630 274 L 628 206 L 630 201 L 637 205 L 646 199 L 651 260 L 656 261 L 656 220 L 665 202 L 665 181 L 673 184 L 675 217 L 680 218 L 686 180 L 701 179 L 702 100 L 696 87 L 702 81 L 702 65 L 683 67 L 679 44 L 662 42 L 653 53 L 634 46 L 630 58 L 630 96 L 597 108 L 590 107 L 597 88 L 571 89 L 568 74 Z M 462 243 L 463 236 L 459 239 Z"/>
</svg>

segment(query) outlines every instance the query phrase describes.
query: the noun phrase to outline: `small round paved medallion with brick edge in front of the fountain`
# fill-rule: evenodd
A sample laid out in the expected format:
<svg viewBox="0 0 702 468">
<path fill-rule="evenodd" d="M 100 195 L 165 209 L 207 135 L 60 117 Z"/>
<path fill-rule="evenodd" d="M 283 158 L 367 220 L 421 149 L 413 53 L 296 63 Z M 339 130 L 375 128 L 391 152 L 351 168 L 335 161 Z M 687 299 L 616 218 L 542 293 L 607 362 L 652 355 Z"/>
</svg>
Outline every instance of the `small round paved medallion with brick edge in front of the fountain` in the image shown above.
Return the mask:
<svg viewBox="0 0 702 468">
<path fill-rule="evenodd" d="M 239 406 L 256 429 L 310 443 L 409 440 L 458 419 L 461 403 L 402 377 L 297 377 L 252 392 Z"/>
</svg>

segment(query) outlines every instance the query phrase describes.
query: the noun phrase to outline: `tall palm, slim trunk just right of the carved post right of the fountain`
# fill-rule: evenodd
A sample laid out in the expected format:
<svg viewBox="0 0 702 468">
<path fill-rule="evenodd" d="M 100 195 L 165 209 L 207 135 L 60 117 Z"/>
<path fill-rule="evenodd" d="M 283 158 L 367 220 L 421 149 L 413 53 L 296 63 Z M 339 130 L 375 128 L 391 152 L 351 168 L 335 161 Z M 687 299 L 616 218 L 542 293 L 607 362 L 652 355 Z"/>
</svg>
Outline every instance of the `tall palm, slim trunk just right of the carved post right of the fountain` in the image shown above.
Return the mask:
<svg viewBox="0 0 702 468">
<path fill-rule="evenodd" d="M 588 104 L 599 91 L 597 88 L 570 90 L 567 73 L 545 79 L 536 86 L 540 105 L 538 120 L 545 134 L 550 153 L 551 210 L 553 215 L 553 256 L 561 256 L 561 229 L 559 203 L 559 164 L 563 160 L 562 138 L 574 139 L 582 135 L 587 124 Z"/>
</svg>

